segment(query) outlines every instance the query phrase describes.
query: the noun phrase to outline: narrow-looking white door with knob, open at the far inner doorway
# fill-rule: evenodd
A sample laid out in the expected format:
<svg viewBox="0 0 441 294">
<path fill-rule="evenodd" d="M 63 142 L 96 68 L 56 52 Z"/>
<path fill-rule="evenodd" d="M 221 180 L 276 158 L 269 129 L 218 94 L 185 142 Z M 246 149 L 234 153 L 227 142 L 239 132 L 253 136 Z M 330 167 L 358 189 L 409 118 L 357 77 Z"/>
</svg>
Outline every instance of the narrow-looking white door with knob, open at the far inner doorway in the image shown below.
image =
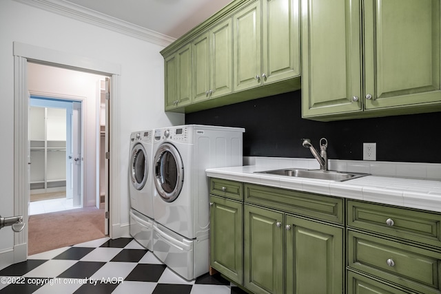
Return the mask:
<svg viewBox="0 0 441 294">
<path fill-rule="evenodd" d="M 81 136 L 81 102 L 72 103 L 72 198 L 74 206 L 82 206 L 83 150 Z"/>
</svg>

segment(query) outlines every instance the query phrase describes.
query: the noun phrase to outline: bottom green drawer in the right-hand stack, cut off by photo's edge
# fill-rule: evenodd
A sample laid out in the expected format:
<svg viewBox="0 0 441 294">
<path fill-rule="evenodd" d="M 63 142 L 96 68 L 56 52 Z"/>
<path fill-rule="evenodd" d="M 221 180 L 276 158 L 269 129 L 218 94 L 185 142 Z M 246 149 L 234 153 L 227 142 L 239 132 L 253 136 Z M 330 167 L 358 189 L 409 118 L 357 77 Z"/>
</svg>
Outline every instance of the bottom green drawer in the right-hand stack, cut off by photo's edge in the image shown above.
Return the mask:
<svg viewBox="0 0 441 294">
<path fill-rule="evenodd" d="M 348 271 L 347 294 L 407 294 L 387 284 L 372 280 L 364 275 Z"/>
</svg>

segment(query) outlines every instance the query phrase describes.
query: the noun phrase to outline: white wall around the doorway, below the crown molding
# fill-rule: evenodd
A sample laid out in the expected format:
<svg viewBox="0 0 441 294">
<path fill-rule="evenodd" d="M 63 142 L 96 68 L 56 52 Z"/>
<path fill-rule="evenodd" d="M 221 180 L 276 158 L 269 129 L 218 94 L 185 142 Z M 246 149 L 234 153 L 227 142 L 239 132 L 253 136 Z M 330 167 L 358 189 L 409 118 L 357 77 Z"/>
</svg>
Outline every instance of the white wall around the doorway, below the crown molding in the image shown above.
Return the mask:
<svg viewBox="0 0 441 294">
<path fill-rule="evenodd" d="M 164 112 L 163 58 L 159 53 L 162 46 L 12 0 L 0 1 L 1 216 L 12 216 L 14 212 L 14 41 L 121 65 L 120 154 L 116 154 L 121 169 L 121 203 L 114 205 L 121 205 L 121 224 L 128 224 L 130 132 L 184 122 L 183 114 Z M 12 246 L 12 230 L 1 229 L 0 252 Z"/>
</svg>

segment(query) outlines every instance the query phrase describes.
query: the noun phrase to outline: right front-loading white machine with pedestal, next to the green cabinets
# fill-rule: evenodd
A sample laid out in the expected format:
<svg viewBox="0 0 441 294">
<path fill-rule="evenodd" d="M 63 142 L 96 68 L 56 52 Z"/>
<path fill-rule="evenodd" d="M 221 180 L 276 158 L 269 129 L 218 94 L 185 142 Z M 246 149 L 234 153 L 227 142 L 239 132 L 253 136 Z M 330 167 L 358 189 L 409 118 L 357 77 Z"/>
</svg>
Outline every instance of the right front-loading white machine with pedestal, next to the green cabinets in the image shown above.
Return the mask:
<svg viewBox="0 0 441 294">
<path fill-rule="evenodd" d="M 156 257 L 187 280 L 209 269 L 209 180 L 205 169 L 242 165 L 236 127 L 182 125 L 154 132 Z"/>
</svg>

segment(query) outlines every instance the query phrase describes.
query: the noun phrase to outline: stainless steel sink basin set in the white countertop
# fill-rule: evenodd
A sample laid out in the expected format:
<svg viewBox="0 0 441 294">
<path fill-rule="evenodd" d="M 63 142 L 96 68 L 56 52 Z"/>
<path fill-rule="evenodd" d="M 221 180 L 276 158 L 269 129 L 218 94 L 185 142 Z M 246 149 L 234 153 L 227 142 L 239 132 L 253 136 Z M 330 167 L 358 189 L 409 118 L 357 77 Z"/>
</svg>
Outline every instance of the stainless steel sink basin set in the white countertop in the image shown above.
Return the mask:
<svg viewBox="0 0 441 294">
<path fill-rule="evenodd" d="M 271 174 L 277 176 L 294 176 L 298 178 L 315 178 L 319 180 L 335 180 L 342 182 L 368 176 L 369 174 L 351 173 L 345 171 L 322 171 L 321 169 L 274 169 L 271 171 L 254 171 L 257 174 Z"/>
</svg>

